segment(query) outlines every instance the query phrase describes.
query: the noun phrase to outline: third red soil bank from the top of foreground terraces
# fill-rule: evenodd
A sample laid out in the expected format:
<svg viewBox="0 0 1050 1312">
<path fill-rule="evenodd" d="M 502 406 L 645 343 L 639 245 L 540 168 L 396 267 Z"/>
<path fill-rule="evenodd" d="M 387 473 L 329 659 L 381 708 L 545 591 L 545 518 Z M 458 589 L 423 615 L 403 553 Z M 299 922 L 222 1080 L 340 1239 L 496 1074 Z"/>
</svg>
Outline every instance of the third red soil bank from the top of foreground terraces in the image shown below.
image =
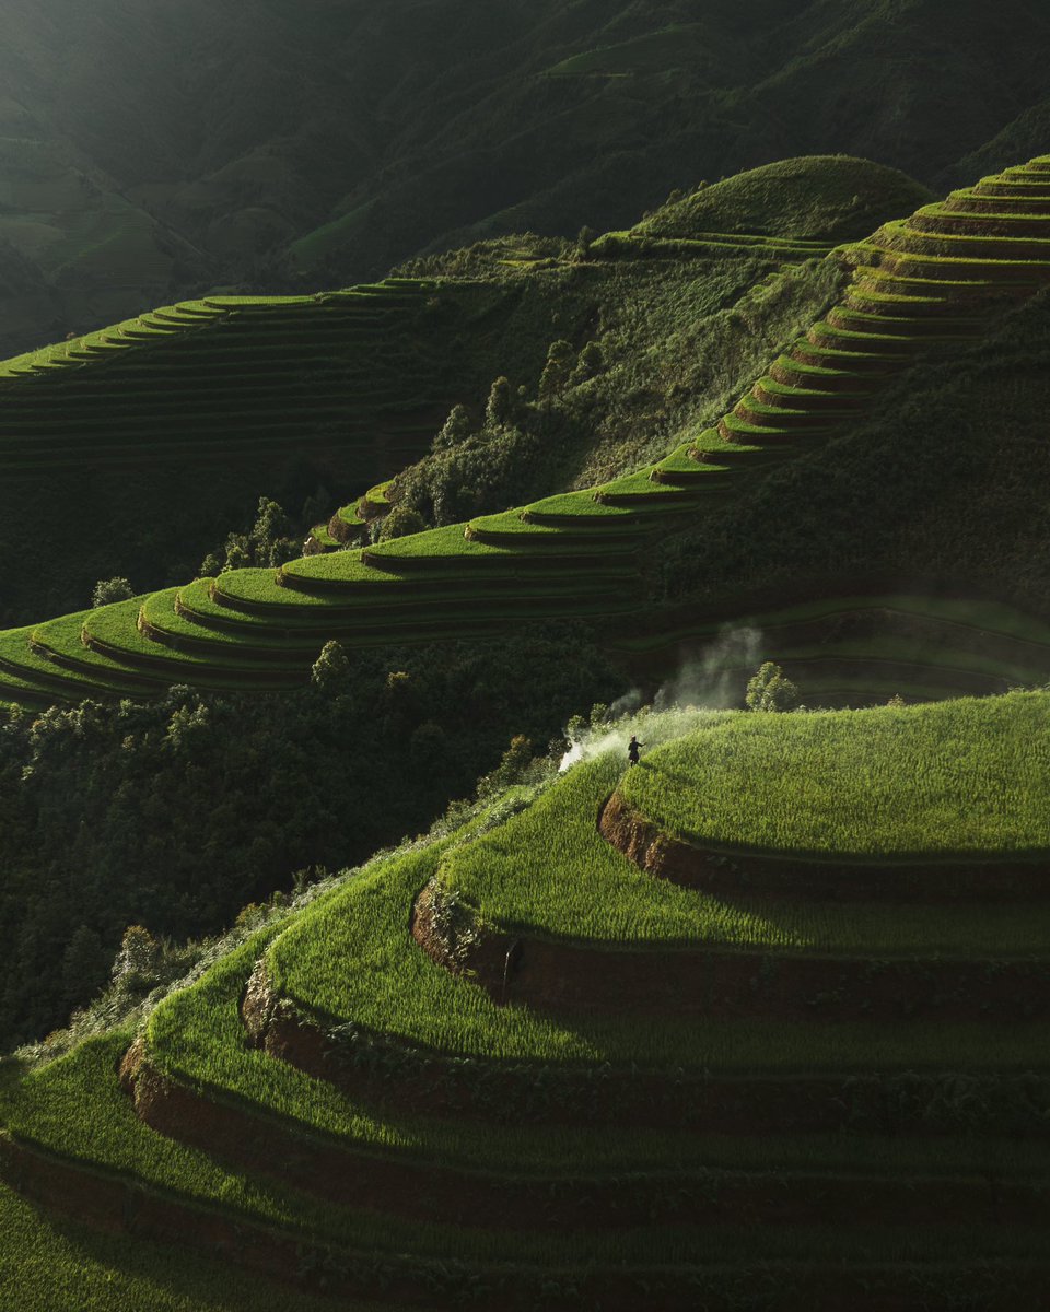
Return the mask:
<svg viewBox="0 0 1050 1312">
<path fill-rule="evenodd" d="M 337 1038 L 273 993 L 260 966 L 242 1017 L 270 1056 L 381 1114 L 513 1124 L 650 1126 L 702 1134 L 1050 1135 L 1050 1077 L 1036 1073 L 777 1075 L 652 1072 L 467 1060 L 357 1029 Z"/>
</svg>

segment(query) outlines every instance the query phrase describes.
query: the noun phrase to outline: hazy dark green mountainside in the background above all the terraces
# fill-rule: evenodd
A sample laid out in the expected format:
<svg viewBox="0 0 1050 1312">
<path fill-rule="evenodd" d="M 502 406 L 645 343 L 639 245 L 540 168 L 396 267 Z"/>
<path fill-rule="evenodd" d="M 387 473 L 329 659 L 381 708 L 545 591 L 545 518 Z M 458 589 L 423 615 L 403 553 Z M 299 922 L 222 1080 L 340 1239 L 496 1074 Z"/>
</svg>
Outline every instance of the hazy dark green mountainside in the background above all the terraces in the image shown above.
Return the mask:
<svg viewBox="0 0 1050 1312">
<path fill-rule="evenodd" d="M 265 0 L 251 21 L 12 0 L 5 33 L 3 353 L 218 289 L 622 228 L 786 156 L 942 190 L 1041 150 L 1050 98 L 1024 0 Z"/>
</svg>

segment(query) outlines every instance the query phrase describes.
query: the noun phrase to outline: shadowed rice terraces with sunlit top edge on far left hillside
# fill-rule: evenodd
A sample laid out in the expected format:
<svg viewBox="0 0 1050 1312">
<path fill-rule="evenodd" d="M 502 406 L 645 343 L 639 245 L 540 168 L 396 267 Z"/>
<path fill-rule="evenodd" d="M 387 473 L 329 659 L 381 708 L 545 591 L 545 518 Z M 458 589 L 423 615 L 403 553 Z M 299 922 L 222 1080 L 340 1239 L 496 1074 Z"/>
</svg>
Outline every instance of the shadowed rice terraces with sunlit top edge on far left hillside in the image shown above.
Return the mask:
<svg viewBox="0 0 1050 1312">
<path fill-rule="evenodd" d="M 413 458 L 442 411 L 438 361 L 406 325 L 433 289 L 209 297 L 0 363 L 0 470 L 227 459 L 383 438 Z M 394 468 L 396 470 L 396 464 Z"/>
</svg>

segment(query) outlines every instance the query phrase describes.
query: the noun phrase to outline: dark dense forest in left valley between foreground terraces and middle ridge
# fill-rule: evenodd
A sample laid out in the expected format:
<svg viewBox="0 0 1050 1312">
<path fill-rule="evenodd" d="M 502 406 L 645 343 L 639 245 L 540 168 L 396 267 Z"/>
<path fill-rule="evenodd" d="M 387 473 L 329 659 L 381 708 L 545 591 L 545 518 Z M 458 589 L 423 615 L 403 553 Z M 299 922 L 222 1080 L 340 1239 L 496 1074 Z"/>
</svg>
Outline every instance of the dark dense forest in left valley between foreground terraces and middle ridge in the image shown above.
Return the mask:
<svg viewBox="0 0 1050 1312">
<path fill-rule="evenodd" d="M 16 715 L 0 728 L 0 1034 L 38 1036 L 87 1002 L 127 925 L 214 933 L 293 871 L 417 829 L 512 733 L 545 744 L 616 686 L 583 639 L 538 632 L 353 653 L 277 698 L 182 687 Z"/>
</svg>

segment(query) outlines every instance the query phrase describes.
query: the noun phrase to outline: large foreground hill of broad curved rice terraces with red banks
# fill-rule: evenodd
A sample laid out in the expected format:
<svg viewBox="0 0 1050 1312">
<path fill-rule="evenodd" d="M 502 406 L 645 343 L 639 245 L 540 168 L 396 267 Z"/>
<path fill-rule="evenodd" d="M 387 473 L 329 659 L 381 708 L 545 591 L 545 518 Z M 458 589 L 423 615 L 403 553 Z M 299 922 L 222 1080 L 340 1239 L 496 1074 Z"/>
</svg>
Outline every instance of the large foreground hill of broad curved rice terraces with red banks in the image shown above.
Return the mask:
<svg viewBox="0 0 1050 1312">
<path fill-rule="evenodd" d="M 0 1176 L 134 1249 L 218 1240 L 231 1288 L 242 1266 L 369 1308 L 1037 1307 L 1046 883 L 996 907 L 763 897 L 739 875 L 710 893 L 595 817 L 623 794 L 692 834 L 719 800 L 717 744 L 760 735 L 807 766 L 818 735 L 848 882 L 890 828 L 849 806 L 870 723 L 900 813 L 925 810 L 920 766 L 959 819 L 995 773 L 994 884 L 1018 848 L 1050 869 L 1047 710 L 1011 694 L 621 724 L 642 766 L 595 743 L 277 913 L 140 1035 L 8 1072 Z M 803 823 L 790 771 L 748 771 L 753 815 Z M 727 764 L 724 798 L 738 785 Z M 910 851 L 936 871 L 944 845 Z"/>
</svg>

